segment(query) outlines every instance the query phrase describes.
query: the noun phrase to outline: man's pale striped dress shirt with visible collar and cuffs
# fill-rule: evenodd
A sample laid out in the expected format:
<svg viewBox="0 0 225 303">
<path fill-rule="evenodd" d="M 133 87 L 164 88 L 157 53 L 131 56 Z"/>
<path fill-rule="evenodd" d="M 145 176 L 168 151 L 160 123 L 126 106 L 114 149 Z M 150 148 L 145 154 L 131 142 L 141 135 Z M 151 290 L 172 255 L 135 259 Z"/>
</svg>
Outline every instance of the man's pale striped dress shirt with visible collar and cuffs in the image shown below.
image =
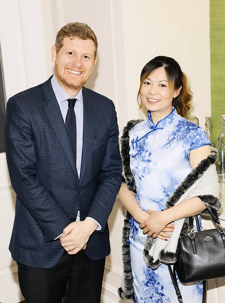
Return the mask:
<svg viewBox="0 0 225 303">
<path fill-rule="evenodd" d="M 68 111 L 68 99 L 72 99 L 64 90 L 61 88 L 61 86 L 58 84 L 55 75 L 51 78 L 51 86 L 55 93 L 55 97 L 58 101 L 59 108 L 61 110 L 61 114 L 64 120 L 64 123 L 66 121 L 66 114 Z M 80 172 L 81 172 L 81 156 L 82 156 L 82 147 L 83 147 L 83 95 L 82 95 L 82 88 L 78 92 L 78 94 L 74 97 L 77 99 L 75 106 L 74 106 L 74 112 L 76 115 L 76 124 L 77 124 L 77 173 L 78 177 L 80 178 Z M 87 217 L 91 220 L 93 220 L 97 225 L 96 230 L 101 230 L 101 225 L 94 220 L 93 218 Z M 77 219 L 76 221 L 80 221 L 80 211 L 78 211 Z M 62 234 L 61 234 L 62 235 Z M 61 235 L 59 235 L 54 240 L 58 239 Z"/>
</svg>

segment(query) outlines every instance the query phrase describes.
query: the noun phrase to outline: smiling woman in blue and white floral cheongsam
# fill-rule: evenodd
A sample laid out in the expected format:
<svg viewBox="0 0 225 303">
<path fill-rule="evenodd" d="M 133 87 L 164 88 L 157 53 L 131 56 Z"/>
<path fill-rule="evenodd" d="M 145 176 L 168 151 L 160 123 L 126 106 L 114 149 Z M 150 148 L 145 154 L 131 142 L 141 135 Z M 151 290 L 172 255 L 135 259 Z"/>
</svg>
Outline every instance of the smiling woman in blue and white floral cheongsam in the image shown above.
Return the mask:
<svg viewBox="0 0 225 303">
<path fill-rule="evenodd" d="M 187 120 L 191 100 L 187 77 L 173 58 L 158 56 L 144 66 L 137 101 L 140 108 L 147 108 L 147 120 L 128 122 L 121 139 L 126 183 L 119 198 L 131 215 L 124 227 L 124 239 L 126 232 L 129 237 L 123 254 L 126 285 L 119 290 L 123 299 L 133 298 L 138 303 L 177 301 L 167 266 L 148 267 L 143 250 L 147 236 L 167 241 L 173 232 L 171 222 L 206 208 L 199 197 L 193 197 L 164 210 L 177 186 L 211 153 L 203 128 Z M 202 282 L 188 286 L 179 282 L 179 286 L 184 303 L 202 302 Z"/>
</svg>

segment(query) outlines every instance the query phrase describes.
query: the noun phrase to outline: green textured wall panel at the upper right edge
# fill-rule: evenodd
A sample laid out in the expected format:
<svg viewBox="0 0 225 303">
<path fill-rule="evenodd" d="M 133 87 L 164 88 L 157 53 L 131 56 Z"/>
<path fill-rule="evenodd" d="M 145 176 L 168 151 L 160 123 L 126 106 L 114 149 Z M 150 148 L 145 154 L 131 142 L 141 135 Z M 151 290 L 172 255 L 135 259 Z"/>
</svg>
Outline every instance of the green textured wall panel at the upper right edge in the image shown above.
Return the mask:
<svg viewBox="0 0 225 303">
<path fill-rule="evenodd" d="M 211 116 L 217 140 L 225 115 L 225 0 L 210 0 Z"/>
</svg>

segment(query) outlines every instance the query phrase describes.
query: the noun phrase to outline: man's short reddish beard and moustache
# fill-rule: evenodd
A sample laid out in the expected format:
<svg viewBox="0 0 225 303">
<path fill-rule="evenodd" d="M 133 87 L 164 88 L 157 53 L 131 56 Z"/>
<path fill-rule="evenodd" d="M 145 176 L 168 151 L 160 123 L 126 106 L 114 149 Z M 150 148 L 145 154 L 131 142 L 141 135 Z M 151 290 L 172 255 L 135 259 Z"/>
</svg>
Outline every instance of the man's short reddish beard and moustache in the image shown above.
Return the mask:
<svg viewBox="0 0 225 303">
<path fill-rule="evenodd" d="M 67 67 L 67 68 L 69 68 L 69 67 Z M 79 71 L 79 69 L 77 69 L 77 70 Z M 60 66 L 58 66 L 57 62 L 55 62 L 56 78 L 62 83 L 62 85 L 64 85 L 65 87 L 67 87 L 69 89 L 74 89 L 74 90 L 78 90 L 79 88 L 81 89 L 84 86 L 84 84 L 88 81 L 88 79 L 90 78 L 90 76 L 92 74 L 92 69 L 91 69 L 89 74 L 87 74 L 80 80 L 77 80 L 77 79 L 67 77 L 64 73 L 61 75 L 60 71 L 61 71 Z M 85 73 L 85 70 L 80 70 L 80 71 Z"/>
</svg>

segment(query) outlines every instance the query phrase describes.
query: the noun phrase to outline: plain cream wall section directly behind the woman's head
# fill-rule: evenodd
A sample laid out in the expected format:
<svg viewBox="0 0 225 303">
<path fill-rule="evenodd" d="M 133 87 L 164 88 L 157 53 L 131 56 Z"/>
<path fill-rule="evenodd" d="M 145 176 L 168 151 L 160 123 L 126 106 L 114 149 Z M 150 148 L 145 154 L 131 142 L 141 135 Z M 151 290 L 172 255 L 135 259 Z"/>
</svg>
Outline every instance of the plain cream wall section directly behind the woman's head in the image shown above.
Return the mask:
<svg viewBox="0 0 225 303">
<path fill-rule="evenodd" d="M 174 58 L 191 82 L 193 114 L 204 126 L 210 115 L 209 0 L 126 1 L 129 47 L 129 82 L 132 116 L 144 65 L 158 55 Z"/>
</svg>

